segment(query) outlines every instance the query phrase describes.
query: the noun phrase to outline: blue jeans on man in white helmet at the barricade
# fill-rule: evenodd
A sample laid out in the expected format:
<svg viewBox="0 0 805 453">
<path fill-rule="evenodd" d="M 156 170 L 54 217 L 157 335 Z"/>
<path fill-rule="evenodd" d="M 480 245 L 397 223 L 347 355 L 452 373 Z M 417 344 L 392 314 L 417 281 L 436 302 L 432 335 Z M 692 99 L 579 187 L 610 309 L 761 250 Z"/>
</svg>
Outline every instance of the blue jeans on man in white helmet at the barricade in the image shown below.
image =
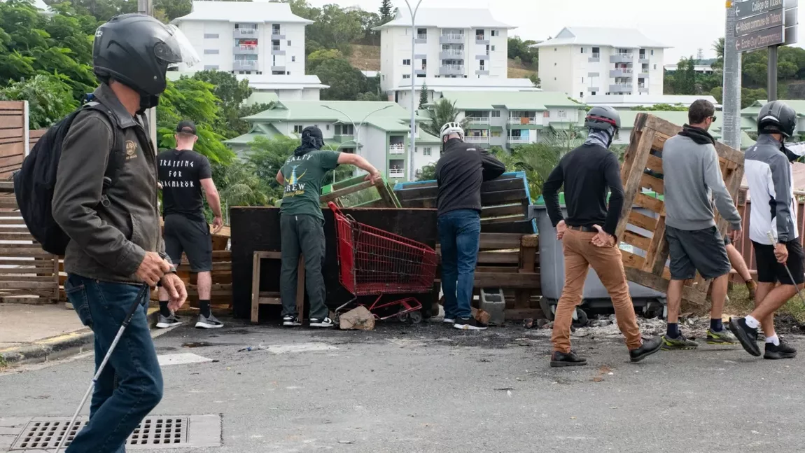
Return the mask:
<svg viewBox="0 0 805 453">
<path fill-rule="evenodd" d="M 475 263 L 481 241 L 481 214 L 474 209 L 458 209 L 439 216 L 439 243 L 442 246 L 442 291 L 444 317 L 469 319 L 473 298 Z"/>
</svg>

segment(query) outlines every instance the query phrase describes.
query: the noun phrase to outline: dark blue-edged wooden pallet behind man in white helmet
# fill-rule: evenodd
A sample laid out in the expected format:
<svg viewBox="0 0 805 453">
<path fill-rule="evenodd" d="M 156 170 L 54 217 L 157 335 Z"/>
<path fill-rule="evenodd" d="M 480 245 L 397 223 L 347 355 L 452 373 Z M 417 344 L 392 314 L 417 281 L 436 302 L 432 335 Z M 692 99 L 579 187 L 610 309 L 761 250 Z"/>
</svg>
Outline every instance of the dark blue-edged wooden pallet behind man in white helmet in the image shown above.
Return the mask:
<svg viewBox="0 0 805 453">
<path fill-rule="evenodd" d="M 394 193 L 403 208 L 436 208 L 439 187 L 436 181 L 398 183 Z M 504 173 L 481 184 L 481 232 L 536 233 L 536 223 L 528 220 L 530 193 L 522 171 Z M 516 248 L 516 247 L 515 247 Z"/>
</svg>

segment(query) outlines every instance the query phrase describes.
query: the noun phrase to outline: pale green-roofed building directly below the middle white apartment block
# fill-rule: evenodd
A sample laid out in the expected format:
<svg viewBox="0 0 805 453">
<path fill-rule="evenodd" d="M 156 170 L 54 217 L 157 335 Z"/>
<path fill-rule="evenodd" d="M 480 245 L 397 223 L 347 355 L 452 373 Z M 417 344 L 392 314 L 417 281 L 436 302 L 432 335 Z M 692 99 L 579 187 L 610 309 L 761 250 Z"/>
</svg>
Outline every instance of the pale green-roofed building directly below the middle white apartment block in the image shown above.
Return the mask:
<svg viewBox="0 0 805 453">
<path fill-rule="evenodd" d="M 584 105 L 564 93 L 449 91 L 444 99 L 456 103 L 466 119 L 466 141 L 483 147 L 539 142 L 543 131 L 582 126 Z"/>
</svg>

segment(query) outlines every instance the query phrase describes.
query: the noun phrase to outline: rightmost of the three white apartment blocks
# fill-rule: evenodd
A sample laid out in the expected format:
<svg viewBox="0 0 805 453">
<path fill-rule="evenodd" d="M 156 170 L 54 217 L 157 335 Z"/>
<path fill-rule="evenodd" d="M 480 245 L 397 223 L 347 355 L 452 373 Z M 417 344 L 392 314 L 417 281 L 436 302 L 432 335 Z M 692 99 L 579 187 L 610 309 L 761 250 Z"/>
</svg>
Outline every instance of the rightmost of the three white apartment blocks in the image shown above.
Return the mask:
<svg viewBox="0 0 805 453">
<path fill-rule="evenodd" d="M 565 27 L 539 48 L 546 91 L 582 101 L 597 95 L 663 94 L 663 51 L 669 46 L 623 28 Z"/>
</svg>

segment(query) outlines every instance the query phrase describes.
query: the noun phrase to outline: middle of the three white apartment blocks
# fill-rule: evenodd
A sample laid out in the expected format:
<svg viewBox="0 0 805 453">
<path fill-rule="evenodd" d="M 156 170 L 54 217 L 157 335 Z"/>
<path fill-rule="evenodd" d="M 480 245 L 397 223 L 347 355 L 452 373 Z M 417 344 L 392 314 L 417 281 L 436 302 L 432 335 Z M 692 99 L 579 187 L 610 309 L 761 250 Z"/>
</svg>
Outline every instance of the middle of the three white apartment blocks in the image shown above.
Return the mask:
<svg viewBox="0 0 805 453">
<path fill-rule="evenodd" d="M 411 60 L 411 16 L 399 10 L 380 31 L 380 88 L 416 78 L 506 79 L 507 43 L 514 28 L 493 19 L 489 10 L 420 8 L 416 14 Z M 409 84 L 410 86 L 410 84 Z"/>
</svg>

